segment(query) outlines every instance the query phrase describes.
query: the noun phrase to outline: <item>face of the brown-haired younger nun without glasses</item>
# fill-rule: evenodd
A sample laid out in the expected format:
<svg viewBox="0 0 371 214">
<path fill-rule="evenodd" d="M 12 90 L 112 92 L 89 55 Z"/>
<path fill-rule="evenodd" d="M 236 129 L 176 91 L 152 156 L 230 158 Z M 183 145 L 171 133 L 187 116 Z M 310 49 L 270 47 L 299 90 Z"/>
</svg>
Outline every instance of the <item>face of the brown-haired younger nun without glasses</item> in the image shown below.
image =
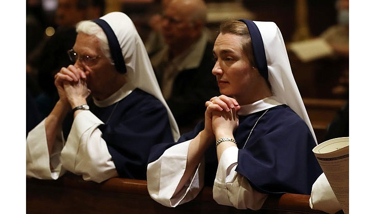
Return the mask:
<svg viewBox="0 0 371 214">
<path fill-rule="evenodd" d="M 242 49 L 242 37 L 233 34 L 219 34 L 213 54 L 216 60 L 213 74 L 217 77 L 221 94 L 246 102 L 257 82 L 254 69 Z"/>
</svg>

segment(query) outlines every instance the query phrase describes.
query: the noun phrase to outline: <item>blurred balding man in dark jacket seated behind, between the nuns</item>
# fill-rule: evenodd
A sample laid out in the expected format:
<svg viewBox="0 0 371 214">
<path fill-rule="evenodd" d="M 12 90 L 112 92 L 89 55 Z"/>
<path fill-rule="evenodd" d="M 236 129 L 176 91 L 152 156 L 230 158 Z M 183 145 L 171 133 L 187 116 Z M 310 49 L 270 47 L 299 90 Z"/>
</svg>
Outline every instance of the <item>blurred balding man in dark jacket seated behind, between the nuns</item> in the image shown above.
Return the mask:
<svg viewBox="0 0 371 214">
<path fill-rule="evenodd" d="M 202 0 L 172 0 L 164 9 L 161 32 L 166 45 L 151 56 L 164 98 L 181 132 L 193 128 L 204 116 L 204 103 L 219 95 L 215 77 L 213 43 L 205 27 Z"/>
</svg>

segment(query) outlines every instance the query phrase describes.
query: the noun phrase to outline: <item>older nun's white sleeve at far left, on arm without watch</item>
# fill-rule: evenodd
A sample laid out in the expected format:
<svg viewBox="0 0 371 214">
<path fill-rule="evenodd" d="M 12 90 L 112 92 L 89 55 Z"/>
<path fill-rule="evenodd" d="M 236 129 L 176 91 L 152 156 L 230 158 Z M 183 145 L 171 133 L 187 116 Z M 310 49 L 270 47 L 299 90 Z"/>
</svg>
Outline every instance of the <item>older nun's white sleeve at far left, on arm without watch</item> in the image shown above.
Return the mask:
<svg viewBox="0 0 371 214">
<path fill-rule="evenodd" d="M 64 145 L 62 131 L 57 135 L 53 150 L 49 157 L 45 119 L 29 132 L 26 138 L 26 176 L 38 179 L 58 179 L 65 173 L 60 162 Z M 53 170 L 50 170 L 50 165 Z"/>
</svg>

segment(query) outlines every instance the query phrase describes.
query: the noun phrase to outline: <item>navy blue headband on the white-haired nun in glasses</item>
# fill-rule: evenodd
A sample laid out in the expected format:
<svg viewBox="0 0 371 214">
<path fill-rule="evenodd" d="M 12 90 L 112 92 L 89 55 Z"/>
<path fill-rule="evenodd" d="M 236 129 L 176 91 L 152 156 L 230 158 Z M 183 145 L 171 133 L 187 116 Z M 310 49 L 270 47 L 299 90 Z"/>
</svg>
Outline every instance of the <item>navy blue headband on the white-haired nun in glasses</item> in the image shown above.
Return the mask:
<svg viewBox="0 0 371 214">
<path fill-rule="evenodd" d="M 107 36 L 108 45 L 110 46 L 111 51 L 111 57 L 113 59 L 113 62 L 115 63 L 116 70 L 119 73 L 126 73 L 126 66 L 124 58 L 122 56 L 121 47 L 111 26 L 107 23 L 107 21 L 104 21 L 103 19 L 97 18 L 93 21 L 97 23 L 100 28 L 103 29 L 105 35 Z"/>
</svg>

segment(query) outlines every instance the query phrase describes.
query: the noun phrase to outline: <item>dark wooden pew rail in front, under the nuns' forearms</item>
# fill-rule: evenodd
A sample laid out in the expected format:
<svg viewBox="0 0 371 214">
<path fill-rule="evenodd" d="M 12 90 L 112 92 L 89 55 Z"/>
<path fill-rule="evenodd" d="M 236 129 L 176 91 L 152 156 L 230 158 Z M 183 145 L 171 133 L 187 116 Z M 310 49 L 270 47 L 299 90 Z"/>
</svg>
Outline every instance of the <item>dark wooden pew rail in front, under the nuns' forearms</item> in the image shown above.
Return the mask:
<svg viewBox="0 0 371 214">
<path fill-rule="evenodd" d="M 102 183 L 66 174 L 58 180 L 26 179 L 26 212 L 37 213 L 325 213 L 309 207 L 309 195 L 269 197 L 258 211 L 217 204 L 205 187 L 191 202 L 175 208 L 152 200 L 147 182 L 111 178 Z"/>
</svg>

